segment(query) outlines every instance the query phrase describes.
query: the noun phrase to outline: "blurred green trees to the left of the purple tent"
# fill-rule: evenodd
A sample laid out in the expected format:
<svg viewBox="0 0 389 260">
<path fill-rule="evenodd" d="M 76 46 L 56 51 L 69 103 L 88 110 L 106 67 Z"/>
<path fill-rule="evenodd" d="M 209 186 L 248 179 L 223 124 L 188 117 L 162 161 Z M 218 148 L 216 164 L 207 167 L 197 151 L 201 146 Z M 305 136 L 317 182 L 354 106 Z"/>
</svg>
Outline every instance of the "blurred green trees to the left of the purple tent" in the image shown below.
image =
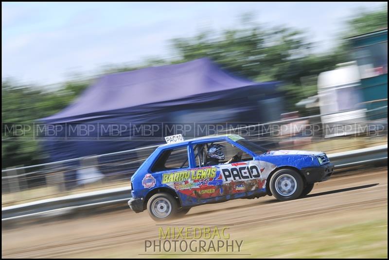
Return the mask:
<svg viewBox="0 0 389 260">
<path fill-rule="evenodd" d="M 34 123 L 65 108 L 87 86 L 88 81 L 71 81 L 59 90 L 1 83 L 2 168 L 41 163 L 47 156 L 34 138 Z"/>
</svg>

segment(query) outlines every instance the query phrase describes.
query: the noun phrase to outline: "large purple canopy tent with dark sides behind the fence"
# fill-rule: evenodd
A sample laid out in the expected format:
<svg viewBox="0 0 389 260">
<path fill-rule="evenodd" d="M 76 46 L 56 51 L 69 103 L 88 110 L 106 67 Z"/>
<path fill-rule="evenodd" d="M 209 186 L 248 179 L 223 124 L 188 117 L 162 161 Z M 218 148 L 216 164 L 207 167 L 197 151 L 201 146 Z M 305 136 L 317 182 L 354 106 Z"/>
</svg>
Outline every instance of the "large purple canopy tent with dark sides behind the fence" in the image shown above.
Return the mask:
<svg viewBox="0 0 389 260">
<path fill-rule="evenodd" d="M 238 78 L 208 58 L 108 74 L 68 107 L 40 120 L 64 126 L 55 138 L 47 138 L 43 144 L 50 160 L 56 161 L 163 142 L 163 139 L 132 141 L 135 135 L 131 125 L 140 123 L 276 120 L 283 112 L 278 85 L 278 82 L 257 83 Z M 121 131 L 121 139 L 102 141 L 109 133 L 99 132 L 98 128 L 87 137 L 69 131 L 82 123 L 94 126 L 123 123 L 129 128 Z"/>
</svg>

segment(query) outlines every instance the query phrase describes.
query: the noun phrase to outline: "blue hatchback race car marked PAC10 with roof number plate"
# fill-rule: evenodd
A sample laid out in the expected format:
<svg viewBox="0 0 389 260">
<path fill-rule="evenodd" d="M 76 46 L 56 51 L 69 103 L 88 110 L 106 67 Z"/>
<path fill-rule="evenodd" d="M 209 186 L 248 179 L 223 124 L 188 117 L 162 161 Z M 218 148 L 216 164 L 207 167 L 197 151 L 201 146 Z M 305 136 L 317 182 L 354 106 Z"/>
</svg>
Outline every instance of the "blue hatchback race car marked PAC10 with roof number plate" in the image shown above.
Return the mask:
<svg viewBox="0 0 389 260">
<path fill-rule="evenodd" d="M 156 220 L 186 214 L 198 205 L 273 195 L 293 200 L 327 180 L 334 165 L 322 152 L 277 150 L 238 135 L 184 140 L 165 138 L 131 177 L 128 205 Z"/>
</svg>

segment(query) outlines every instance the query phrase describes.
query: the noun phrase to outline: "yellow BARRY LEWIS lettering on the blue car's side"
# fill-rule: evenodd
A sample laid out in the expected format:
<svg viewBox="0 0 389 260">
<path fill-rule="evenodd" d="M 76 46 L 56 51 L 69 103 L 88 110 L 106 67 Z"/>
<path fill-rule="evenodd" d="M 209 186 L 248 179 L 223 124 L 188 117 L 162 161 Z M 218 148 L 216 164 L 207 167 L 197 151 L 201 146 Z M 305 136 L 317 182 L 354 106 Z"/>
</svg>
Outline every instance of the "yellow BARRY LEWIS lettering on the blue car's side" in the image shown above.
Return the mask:
<svg viewBox="0 0 389 260">
<path fill-rule="evenodd" d="M 209 180 L 216 176 L 216 167 L 210 168 L 201 168 L 189 171 L 181 171 L 174 173 L 163 173 L 162 174 L 162 184 L 166 183 L 177 183 L 184 181 L 200 181 L 200 180 Z M 198 184 L 197 184 L 198 185 Z"/>
</svg>

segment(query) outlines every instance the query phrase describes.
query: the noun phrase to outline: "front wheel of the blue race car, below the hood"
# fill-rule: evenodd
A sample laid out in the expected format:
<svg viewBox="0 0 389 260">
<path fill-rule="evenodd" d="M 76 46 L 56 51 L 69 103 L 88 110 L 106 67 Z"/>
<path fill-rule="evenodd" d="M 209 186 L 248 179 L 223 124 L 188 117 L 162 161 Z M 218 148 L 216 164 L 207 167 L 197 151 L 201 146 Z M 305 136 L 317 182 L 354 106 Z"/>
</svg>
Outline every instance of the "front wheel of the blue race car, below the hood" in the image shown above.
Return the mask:
<svg viewBox="0 0 389 260">
<path fill-rule="evenodd" d="M 301 175 L 291 169 L 278 170 L 270 178 L 270 191 L 280 201 L 297 199 L 303 188 Z"/>
</svg>

